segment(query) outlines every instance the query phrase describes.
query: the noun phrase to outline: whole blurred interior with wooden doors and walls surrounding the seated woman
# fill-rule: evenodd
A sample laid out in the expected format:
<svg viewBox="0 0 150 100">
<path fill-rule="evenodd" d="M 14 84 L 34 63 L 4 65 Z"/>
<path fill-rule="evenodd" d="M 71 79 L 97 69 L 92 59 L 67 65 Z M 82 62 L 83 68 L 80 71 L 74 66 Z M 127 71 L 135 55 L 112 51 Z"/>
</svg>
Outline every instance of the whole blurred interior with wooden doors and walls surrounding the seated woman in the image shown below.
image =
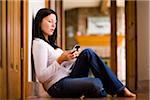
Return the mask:
<svg viewBox="0 0 150 100">
<path fill-rule="evenodd" d="M 139 100 L 148 100 L 148 0 L 0 0 L 0 100 L 48 97 L 31 63 L 33 19 L 44 7 L 58 14 L 58 46 L 92 48 Z"/>
</svg>

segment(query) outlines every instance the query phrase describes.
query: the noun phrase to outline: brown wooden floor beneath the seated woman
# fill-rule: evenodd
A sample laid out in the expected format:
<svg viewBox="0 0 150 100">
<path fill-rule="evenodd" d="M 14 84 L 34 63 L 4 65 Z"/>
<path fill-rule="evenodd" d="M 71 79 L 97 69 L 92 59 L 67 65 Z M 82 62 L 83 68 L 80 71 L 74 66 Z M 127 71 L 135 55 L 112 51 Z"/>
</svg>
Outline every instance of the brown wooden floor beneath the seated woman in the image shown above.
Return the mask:
<svg viewBox="0 0 150 100">
<path fill-rule="evenodd" d="M 80 98 L 51 98 L 51 97 L 28 97 L 27 100 L 81 100 Z M 136 98 L 131 97 L 104 97 L 84 98 L 83 100 L 150 100 L 150 93 L 137 93 Z"/>
</svg>

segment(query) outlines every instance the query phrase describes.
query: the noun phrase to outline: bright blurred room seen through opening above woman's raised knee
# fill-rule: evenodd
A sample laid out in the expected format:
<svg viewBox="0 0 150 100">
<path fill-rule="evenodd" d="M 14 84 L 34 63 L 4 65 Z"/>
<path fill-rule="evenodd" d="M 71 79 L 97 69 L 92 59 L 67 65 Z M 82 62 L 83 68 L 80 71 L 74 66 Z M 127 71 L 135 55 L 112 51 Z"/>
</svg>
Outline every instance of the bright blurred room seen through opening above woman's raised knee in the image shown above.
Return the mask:
<svg viewBox="0 0 150 100">
<path fill-rule="evenodd" d="M 92 48 L 125 84 L 125 1 L 70 0 L 63 8 L 66 49 Z"/>
</svg>

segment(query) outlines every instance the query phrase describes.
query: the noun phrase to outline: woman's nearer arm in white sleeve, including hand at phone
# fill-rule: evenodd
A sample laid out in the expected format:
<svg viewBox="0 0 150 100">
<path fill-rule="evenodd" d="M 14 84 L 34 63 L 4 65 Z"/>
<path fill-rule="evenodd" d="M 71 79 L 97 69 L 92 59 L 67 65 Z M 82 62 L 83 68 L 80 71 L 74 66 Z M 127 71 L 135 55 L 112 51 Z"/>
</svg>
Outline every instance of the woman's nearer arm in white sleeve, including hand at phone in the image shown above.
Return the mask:
<svg viewBox="0 0 150 100">
<path fill-rule="evenodd" d="M 38 80 L 44 83 L 50 79 L 62 66 L 63 61 L 68 61 L 76 57 L 76 52 L 72 54 L 71 51 L 64 51 L 57 59 L 51 58 L 52 62 L 48 65 L 48 49 L 45 43 L 33 43 L 33 58 L 35 65 L 35 72 Z"/>
</svg>

